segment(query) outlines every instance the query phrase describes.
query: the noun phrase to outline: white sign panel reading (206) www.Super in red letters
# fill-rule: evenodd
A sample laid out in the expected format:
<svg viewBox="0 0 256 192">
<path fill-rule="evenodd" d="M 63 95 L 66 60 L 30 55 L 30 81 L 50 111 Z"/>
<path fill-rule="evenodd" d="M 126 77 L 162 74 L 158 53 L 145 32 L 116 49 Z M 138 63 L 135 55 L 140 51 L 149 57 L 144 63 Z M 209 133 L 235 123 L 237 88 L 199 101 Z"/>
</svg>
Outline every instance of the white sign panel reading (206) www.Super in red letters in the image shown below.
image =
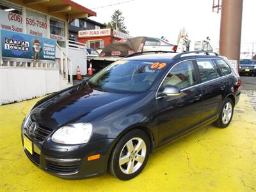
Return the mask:
<svg viewBox="0 0 256 192">
<path fill-rule="evenodd" d="M 23 32 L 22 28 L 22 15 L 12 12 L 6 12 L 4 10 L 0 10 L 0 29 L 15 31 L 15 32 Z"/>
</svg>

